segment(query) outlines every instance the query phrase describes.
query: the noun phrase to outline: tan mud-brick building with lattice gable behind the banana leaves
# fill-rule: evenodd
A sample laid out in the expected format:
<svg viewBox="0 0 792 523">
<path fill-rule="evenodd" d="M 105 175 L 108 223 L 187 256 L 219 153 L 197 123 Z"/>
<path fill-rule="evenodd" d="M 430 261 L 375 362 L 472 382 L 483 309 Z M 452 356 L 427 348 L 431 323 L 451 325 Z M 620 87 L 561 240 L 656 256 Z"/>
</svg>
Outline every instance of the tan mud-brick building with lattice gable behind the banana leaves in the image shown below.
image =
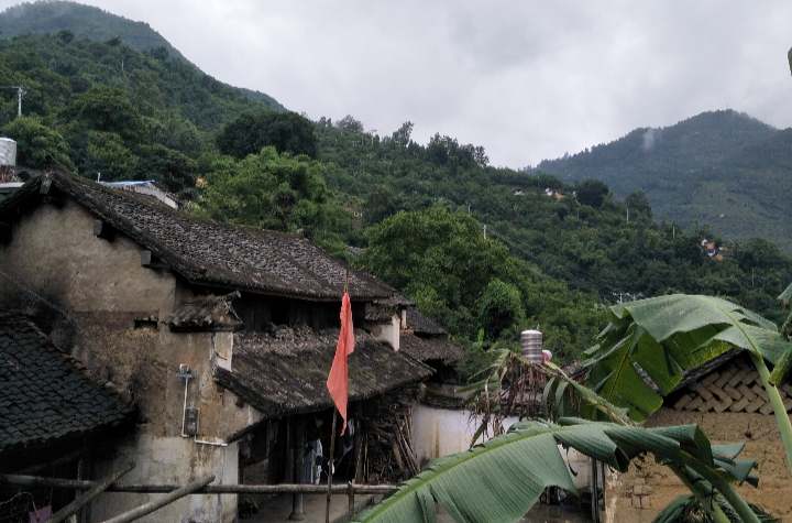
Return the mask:
<svg viewBox="0 0 792 523">
<path fill-rule="evenodd" d="M 792 410 L 792 386 L 779 388 Z M 782 521 L 792 521 L 792 478 L 781 435 L 759 373 L 746 353 L 729 351 L 685 373 L 647 427 L 695 424 L 713 444 L 745 443 L 740 458 L 756 459 L 759 488 L 737 491 Z M 649 458 L 606 481 L 607 522 L 651 522 L 676 497 L 689 493 L 667 467 Z"/>
</svg>

